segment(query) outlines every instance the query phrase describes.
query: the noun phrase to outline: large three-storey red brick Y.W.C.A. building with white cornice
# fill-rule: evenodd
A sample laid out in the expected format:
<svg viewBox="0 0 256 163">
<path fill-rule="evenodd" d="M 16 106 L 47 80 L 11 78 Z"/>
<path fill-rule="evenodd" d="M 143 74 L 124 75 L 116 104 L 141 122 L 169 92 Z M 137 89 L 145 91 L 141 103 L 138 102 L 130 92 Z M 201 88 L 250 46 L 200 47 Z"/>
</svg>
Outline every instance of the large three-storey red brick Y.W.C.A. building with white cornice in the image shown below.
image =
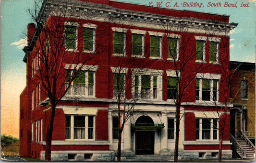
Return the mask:
<svg viewBox="0 0 256 163">
<path fill-rule="evenodd" d="M 69 22 L 77 16 L 75 25 L 70 28 L 70 32 L 78 36 L 78 41 L 69 43 L 76 49 L 71 56 L 81 55 L 82 62 L 84 55 L 92 57 L 91 53 L 99 53 L 97 49 L 100 49 L 100 55 L 92 57 L 90 63 L 94 67 L 77 79 L 80 86 L 75 85 L 77 80 L 74 80 L 73 87 L 56 109 L 52 160 L 114 159 L 117 151 L 114 92 L 115 73 L 118 72 L 115 67 L 121 59 L 125 61 L 122 74 L 125 76 L 126 98 L 128 101 L 138 96 L 144 98 L 137 101 L 136 111 L 125 124 L 122 157 L 133 159 L 137 155 L 155 154 L 159 158 L 172 159 L 176 107 L 171 92 L 177 91 L 174 67 L 186 57 L 191 59 L 184 65 L 186 71 L 181 80 L 181 87 L 187 89 L 183 92 L 181 106 L 179 159 L 218 158 L 218 127 L 224 122 L 227 125 L 222 156 L 231 158 L 229 109 L 223 110 L 225 103 L 229 103 L 229 94 L 226 94 L 229 88 L 224 76 L 229 71 L 229 32 L 237 24 L 230 23 L 229 16 L 222 14 L 155 8 L 114 0 L 87 1 L 90 2 L 72 1 L 72 7 L 67 7 L 67 11 L 73 11 L 72 16 L 63 22 L 63 26 L 70 26 Z M 66 6 L 61 1 L 48 0 L 44 7 L 41 14 Z M 85 11 L 91 11 L 92 17 L 79 17 Z M 61 15 L 59 17 L 62 21 Z M 46 18 L 46 26 L 54 23 L 51 15 L 41 18 Z M 174 24 L 173 31 L 165 30 L 169 23 Z M 88 31 L 93 37 L 85 39 Z M 33 52 L 37 53 L 38 34 L 38 27 L 29 24 L 29 45 L 24 48 L 27 85 L 20 96 L 23 115 L 20 155 L 44 159 L 50 106 L 47 96 L 41 94 L 42 81 L 34 77 L 37 66 L 42 65 L 33 55 Z M 92 44 L 83 48 L 85 42 Z M 61 73 L 68 78 L 65 69 L 72 69 L 72 63 L 67 58 L 61 64 Z M 198 67 L 205 68 L 198 72 Z M 134 69 L 138 71 L 132 71 Z M 186 83 L 189 78 L 192 78 L 191 82 Z"/>
</svg>

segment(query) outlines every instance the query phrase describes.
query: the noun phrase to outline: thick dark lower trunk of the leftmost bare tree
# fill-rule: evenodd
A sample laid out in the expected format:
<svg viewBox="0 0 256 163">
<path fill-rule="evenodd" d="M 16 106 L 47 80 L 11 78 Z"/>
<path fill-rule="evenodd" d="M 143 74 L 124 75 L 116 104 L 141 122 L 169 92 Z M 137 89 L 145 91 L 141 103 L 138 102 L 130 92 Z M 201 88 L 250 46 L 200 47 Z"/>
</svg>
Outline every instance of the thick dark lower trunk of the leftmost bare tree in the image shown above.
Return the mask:
<svg viewBox="0 0 256 163">
<path fill-rule="evenodd" d="M 52 141 L 52 131 L 53 131 L 53 122 L 55 116 L 56 105 L 51 105 L 51 116 L 50 116 L 50 126 L 46 134 L 46 146 L 45 146 L 45 160 L 51 161 L 51 141 Z"/>
</svg>

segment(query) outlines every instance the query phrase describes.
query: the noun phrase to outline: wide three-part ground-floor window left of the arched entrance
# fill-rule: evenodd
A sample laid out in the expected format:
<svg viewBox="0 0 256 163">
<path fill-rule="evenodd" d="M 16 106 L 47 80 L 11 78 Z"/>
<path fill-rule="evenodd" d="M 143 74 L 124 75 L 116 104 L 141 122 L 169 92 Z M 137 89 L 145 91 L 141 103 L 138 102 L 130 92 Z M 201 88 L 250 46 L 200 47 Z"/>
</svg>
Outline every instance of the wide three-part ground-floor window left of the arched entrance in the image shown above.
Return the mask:
<svg viewBox="0 0 256 163">
<path fill-rule="evenodd" d="M 94 140 L 95 116 L 93 115 L 66 115 L 65 139 Z"/>
</svg>

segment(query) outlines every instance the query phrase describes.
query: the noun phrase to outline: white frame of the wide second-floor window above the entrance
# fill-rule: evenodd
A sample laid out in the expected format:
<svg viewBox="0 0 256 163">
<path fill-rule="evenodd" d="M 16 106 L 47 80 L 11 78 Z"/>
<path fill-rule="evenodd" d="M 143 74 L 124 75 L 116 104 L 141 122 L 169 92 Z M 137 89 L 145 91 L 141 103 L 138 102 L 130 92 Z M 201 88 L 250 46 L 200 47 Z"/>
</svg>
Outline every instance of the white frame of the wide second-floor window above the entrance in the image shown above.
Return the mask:
<svg viewBox="0 0 256 163">
<path fill-rule="evenodd" d="M 162 100 L 162 86 L 163 86 L 163 71 L 162 70 L 157 70 L 157 69 L 138 69 L 138 68 L 134 68 L 132 70 L 132 95 L 133 98 L 135 97 L 135 76 L 138 76 L 138 80 L 139 80 L 139 87 L 138 87 L 138 98 L 141 97 L 141 78 L 143 75 L 147 75 L 150 76 L 150 98 L 146 98 L 146 99 L 152 99 L 152 100 Z M 154 76 L 157 76 L 157 98 L 154 98 L 153 95 L 153 82 L 154 82 Z"/>
</svg>

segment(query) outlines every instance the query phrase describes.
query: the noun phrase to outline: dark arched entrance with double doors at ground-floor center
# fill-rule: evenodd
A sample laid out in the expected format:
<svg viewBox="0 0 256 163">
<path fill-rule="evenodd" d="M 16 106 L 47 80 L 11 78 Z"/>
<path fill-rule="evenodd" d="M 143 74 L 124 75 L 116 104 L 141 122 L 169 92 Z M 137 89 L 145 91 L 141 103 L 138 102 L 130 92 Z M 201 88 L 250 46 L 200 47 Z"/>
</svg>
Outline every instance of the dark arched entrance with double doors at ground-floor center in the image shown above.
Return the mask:
<svg viewBox="0 0 256 163">
<path fill-rule="evenodd" d="M 135 130 L 135 154 L 154 154 L 155 130 L 154 121 L 148 116 L 139 117 L 134 127 Z"/>
</svg>

